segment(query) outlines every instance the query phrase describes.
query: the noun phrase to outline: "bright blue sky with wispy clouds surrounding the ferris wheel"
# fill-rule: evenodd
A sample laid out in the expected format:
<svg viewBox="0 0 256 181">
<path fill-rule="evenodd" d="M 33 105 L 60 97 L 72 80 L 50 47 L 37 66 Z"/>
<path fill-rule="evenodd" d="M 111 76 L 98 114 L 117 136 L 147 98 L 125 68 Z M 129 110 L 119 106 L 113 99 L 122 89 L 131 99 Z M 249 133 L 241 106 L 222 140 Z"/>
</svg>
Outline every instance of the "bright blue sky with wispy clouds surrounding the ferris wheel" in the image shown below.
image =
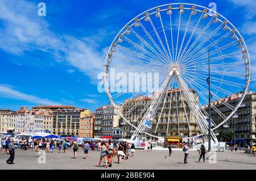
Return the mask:
<svg viewBox="0 0 256 181">
<path fill-rule="evenodd" d="M 46 3 L 46 16 L 38 16 L 39 2 Z M 108 104 L 97 91 L 97 74 L 115 35 L 134 16 L 172 2 L 186 1 L 1 1 L 0 108 L 68 104 L 94 111 Z M 256 2 L 189 1 L 210 2 L 245 39 L 254 81 Z"/>
</svg>

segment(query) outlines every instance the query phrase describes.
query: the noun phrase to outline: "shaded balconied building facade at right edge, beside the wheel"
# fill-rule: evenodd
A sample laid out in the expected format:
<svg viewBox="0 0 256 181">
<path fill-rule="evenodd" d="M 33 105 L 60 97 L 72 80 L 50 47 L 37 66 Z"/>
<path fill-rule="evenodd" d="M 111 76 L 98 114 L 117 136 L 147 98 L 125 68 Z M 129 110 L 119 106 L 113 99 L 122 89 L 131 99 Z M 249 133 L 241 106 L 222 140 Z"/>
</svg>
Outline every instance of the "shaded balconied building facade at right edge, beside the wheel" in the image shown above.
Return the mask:
<svg viewBox="0 0 256 181">
<path fill-rule="evenodd" d="M 233 107 L 235 107 L 240 101 L 242 92 L 237 92 L 237 94 L 233 94 L 231 96 L 226 96 L 222 98 L 222 100 L 215 100 L 213 102 L 214 106 L 220 110 L 226 117 L 230 115 L 232 110 L 226 107 L 223 103 L 229 103 Z M 241 145 L 251 145 L 253 142 L 256 142 L 256 92 L 248 91 L 245 99 L 238 110 L 235 113 L 235 116 L 230 117 L 228 121 L 221 127 L 217 128 L 218 133 L 222 132 L 224 134 L 228 134 L 229 132 L 233 133 L 232 142 Z M 222 117 L 216 112 L 212 111 L 211 113 L 212 120 L 216 125 L 220 124 L 223 119 Z M 228 140 L 227 140 L 228 141 Z M 231 140 L 229 140 L 231 141 Z"/>
</svg>

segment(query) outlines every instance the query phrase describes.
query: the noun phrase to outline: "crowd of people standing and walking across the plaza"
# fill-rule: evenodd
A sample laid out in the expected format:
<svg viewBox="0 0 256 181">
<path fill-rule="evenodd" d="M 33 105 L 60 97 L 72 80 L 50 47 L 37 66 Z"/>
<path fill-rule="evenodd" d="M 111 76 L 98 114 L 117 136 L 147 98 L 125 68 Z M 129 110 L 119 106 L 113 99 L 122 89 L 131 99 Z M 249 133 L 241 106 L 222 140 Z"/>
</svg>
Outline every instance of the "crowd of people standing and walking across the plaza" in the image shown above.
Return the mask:
<svg viewBox="0 0 256 181">
<path fill-rule="evenodd" d="M 7 163 L 14 164 L 14 150 L 15 148 L 20 148 L 21 150 L 33 149 L 33 151 L 46 150 L 47 153 L 53 153 L 54 149 L 59 149 L 59 153 L 63 150 L 64 153 L 67 153 L 67 149 L 73 150 L 73 158 L 76 159 L 77 151 L 79 150 L 79 145 L 76 141 L 69 140 L 54 140 L 53 138 L 42 138 L 42 139 L 26 139 L 22 138 L 18 141 L 18 146 L 15 147 L 13 138 L 2 138 L 0 146 L 2 148 L 2 154 L 10 154 L 10 158 L 7 159 Z M 129 144 L 129 142 L 118 142 L 118 141 L 84 141 L 81 145 L 82 150 L 84 150 L 84 159 L 88 157 L 89 150 L 99 151 L 100 159 L 97 167 L 101 166 L 102 159 L 105 161 L 105 167 L 112 167 L 113 158 L 117 157 L 117 163 L 121 163 L 122 159 L 129 159 L 129 155 L 134 157 L 135 154 L 135 145 Z M 234 150 L 237 151 L 237 146 L 234 146 Z M 250 147 L 249 147 L 250 148 Z M 168 146 L 169 156 L 172 154 L 171 145 Z M 147 145 L 147 150 L 152 150 L 152 144 Z M 185 144 L 183 146 L 184 151 L 184 163 L 188 163 L 188 151 L 189 146 Z M 251 154 L 255 156 L 255 145 L 251 147 Z M 206 150 L 204 145 L 201 145 L 199 149 L 199 162 L 203 158 L 205 162 Z M 167 157 L 166 157 L 167 158 Z"/>
</svg>

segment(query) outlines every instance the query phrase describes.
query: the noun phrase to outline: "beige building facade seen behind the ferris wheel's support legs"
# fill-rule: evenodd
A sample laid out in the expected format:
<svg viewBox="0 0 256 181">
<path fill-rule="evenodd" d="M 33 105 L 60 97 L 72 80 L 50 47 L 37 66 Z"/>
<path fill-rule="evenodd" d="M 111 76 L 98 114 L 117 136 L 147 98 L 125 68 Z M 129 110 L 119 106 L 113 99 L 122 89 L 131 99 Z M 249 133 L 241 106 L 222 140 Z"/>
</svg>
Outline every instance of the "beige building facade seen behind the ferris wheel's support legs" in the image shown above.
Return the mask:
<svg viewBox="0 0 256 181">
<path fill-rule="evenodd" d="M 196 92 L 193 90 L 192 92 L 195 99 L 199 101 Z M 195 117 L 190 112 L 181 90 L 169 90 L 166 94 L 165 100 L 163 99 L 160 102 L 158 111 L 153 117 L 152 128 L 148 129 L 147 132 L 159 137 L 199 134 L 199 127 L 197 127 Z M 144 112 L 146 112 L 143 110 L 150 101 L 151 98 L 144 96 L 127 100 L 123 104 L 123 115 L 125 115 L 127 121 L 137 127 L 144 116 Z M 125 138 L 131 138 L 135 128 L 131 127 L 125 120 L 122 121 L 121 125 L 125 132 Z"/>
</svg>

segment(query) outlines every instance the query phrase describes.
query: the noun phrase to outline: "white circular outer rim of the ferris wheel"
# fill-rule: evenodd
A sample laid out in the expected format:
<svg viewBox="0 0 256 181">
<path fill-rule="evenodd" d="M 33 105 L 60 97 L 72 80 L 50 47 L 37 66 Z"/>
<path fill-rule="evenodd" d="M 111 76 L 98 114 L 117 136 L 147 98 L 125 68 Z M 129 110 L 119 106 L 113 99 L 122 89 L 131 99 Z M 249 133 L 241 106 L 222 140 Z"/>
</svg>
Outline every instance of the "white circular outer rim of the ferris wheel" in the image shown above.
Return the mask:
<svg viewBox="0 0 256 181">
<path fill-rule="evenodd" d="M 234 113 L 237 111 L 237 109 L 241 106 L 242 101 L 243 101 L 243 99 L 245 98 L 245 96 L 246 96 L 246 94 L 247 94 L 247 91 L 248 91 L 248 89 L 249 89 L 250 78 L 251 78 L 251 61 L 250 61 L 250 54 L 249 54 L 249 50 L 248 50 L 248 48 L 247 48 L 247 45 L 246 45 L 246 43 L 245 43 L 245 40 L 242 38 L 242 35 L 241 35 L 241 33 L 237 30 L 237 28 L 236 28 L 228 19 L 226 19 L 223 15 L 219 14 L 217 11 L 214 11 L 214 10 L 209 9 L 208 7 L 196 5 L 196 4 L 193 4 L 193 3 L 167 3 L 167 4 L 165 4 L 165 5 L 160 5 L 160 6 L 153 7 L 153 8 L 151 8 L 151 9 L 148 9 L 148 10 L 142 12 L 141 14 L 135 16 L 135 18 L 131 19 L 130 22 L 127 23 L 127 24 L 117 33 L 117 35 L 115 36 L 114 40 L 112 41 L 112 44 L 111 44 L 110 47 L 109 47 L 108 54 L 109 54 L 109 52 L 111 52 L 112 45 L 115 43 L 115 40 L 117 40 L 118 35 L 121 34 L 121 32 L 122 32 L 123 30 L 125 30 L 125 28 L 126 28 L 131 22 L 133 22 L 136 18 L 138 18 L 139 16 L 143 15 L 144 13 L 146 13 L 146 12 L 148 12 L 148 11 L 151 11 L 151 10 L 154 10 L 154 9 L 156 9 L 156 8 L 163 7 L 163 6 L 170 6 L 170 5 L 190 5 L 190 6 L 201 7 L 201 8 L 203 8 L 203 9 L 207 9 L 207 10 L 210 10 L 210 11 L 214 12 L 215 14 L 217 14 L 218 16 L 220 16 L 221 18 L 223 18 L 224 20 L 227 20 L 227 21 L 228 21 L 228 23 L 229 23 L 229 30 L 231 30 L 230 27 L 232 27 L 232 28 L 234 28 L 234 29 L 236 30 L 236 33 L 241 37 L 242 43 L 243 43 L 243 45 L 244 45 L 244 47 L 245 47 L 245 50 L 246 50 L 246 53 L 247 53 L 247 62 L 249 63 L 249 64 L 248 64 L 249 70 L 246 70 L 246 75 L 247 75 L 247 76 L 246 76 L 246 83 L 245 83 L 245 87 L 244 87 L 244 89 L 243 89 L 243 91 L 242 91 L 243 94 L 242 94 L 241 100 L 238 102 L 237 106 L 236 106 L 236 107 L 234 108 L 234 110 L 229 114 L 229 116 L 226 117 L 226 119 L 225 119 L 224 121 L 222 121 L 220 124 L 216 125 L 216 127 L 212 128 L 212 131 L 213 131 L 213 130 L 217 129 L 218 127 L 220 127 L 221 125 L 223 125 L 226 121 L 228 121 L 228 120 L 230 119 L 230 117 L 232 117 L 232 116 L 234 115 Z M 176 9 L 178 9 L 178 8 L 176 8 Z M 186 9 L 186 8 L 184 8 L 184 9 Z M 188 9 L 188 8 L 187 8 L 187 9 Z M 167 10 L 167 9 L 163 9 L 163 10 L 161 10 L 161 11 L 165 11 L 165 10 Z M 200 10 L 199 10 L 199 11 L 200 11 Z M 152 12 L 151 14 L 154 14 L 154 13 L 155 13 L 155 12 Z M 150 15 L 151 15 L 151 14 L 150 14 Z M 208 14 L 208 13 L 207 13 L 207 14 Z M 213 16 L 213 15 L 211 15 L 211 14 L 208 14 L 208 15 Z M 145 16 L 143 16 L 143 18 L 144 18 L 144 17 L 145 17 Z M 143 18 L 141 18 L 141 19 L 143 19 Z M 220 22 L 224 22 L 224 21 L 221 21 L 221 20 L 220 20 Z M 133 24 L 134 24 L 134 23 L 133 23 Z M 133 26 L 133 25 L 132 25 L 132 26 Z M 123 34 L 124 34 L 124 33 L 125 33 L 125 32 L 123 32 Z M 237 37 L 237 39 L 238 39 L 238 37 Z M 107 54 L 106 59 L 105 59 L 105 65 L 107 64 L 108 54 Z M 246 60 L 245 60 L 245 61 L 246 61 Z M 105 89 L 106 89 L 106 92 L 107 92 L 107 94 L 108 94 L 108 96 L 109 96 L 110 102 L 111 102 L 112 105 L 114 106 L 115 110 L 117 110 L 118 114 L 123 118 L 123 120 L 125 120 L 126 123 L 128 123 L 129 125 L 131 125 L 131 127 L 137 129 L 138 127 L 136 127 L 135 125 L 131 124 L 130 121 L 128 121 L 128 120 L 126 119 L 126 117 L 124 117 L 123 114 L 122 114 L 121 112 L 119 112 L 119 110 L 118 110 L 118 108 L 117 108 L 117 104 L 115 104 L 115 102 L 114 102 L 114 100 L 113 100 L 113 98 L 112 98 L 112 95 L 110 94 L 109 85 L 108 85 L 108 73 L 106 72 L 106 66 L 105 66 L 105 68 L 104 68 L 104 73 L 105 73 L 105 75 L 104 75 Z M 155 135 L 153 135 L 153 134 L 150 134 L 150 133 L 147 133 L 147 132 L 144 132 L 144 131 L 143 131 L 143 133 L 147 134 L 148 136 L 152 136 L 152 137 L 156 137 L 156 138 L 163 138 L 163 137 L 155 136 Z"/>
</svg>

